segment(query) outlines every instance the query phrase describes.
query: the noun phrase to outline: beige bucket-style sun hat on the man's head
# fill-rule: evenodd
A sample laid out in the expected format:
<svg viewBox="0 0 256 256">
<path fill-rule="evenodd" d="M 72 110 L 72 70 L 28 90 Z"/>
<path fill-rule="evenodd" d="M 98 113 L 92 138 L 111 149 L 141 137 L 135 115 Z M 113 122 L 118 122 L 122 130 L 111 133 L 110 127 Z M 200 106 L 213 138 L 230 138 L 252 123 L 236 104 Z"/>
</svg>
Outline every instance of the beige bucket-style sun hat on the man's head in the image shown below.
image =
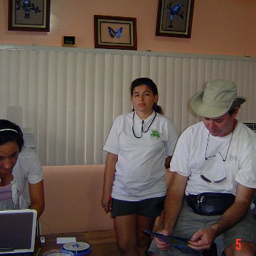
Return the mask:
<svg viewBox="0 0 256 256">
<path fill-rule="evenodd" d="M 201 117 L 220 117 L 240 107 L 245 97 L 238 97 L 235 82 L 216 79 L 207 82 L 206 89 L 198 92 L 191 102 L 191 107 Z"/>
</svg>

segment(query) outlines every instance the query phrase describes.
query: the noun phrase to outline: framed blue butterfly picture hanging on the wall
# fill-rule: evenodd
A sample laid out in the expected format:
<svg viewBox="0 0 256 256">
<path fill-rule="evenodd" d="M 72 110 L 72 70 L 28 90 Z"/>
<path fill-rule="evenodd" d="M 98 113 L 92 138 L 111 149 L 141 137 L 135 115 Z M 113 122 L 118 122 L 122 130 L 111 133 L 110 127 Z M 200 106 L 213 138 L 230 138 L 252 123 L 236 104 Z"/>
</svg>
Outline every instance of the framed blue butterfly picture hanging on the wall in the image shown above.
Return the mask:
<svg viewBox="0 0 256 256">
<path fill-rule="evenodd" d="M 136 18 L 94 16 L 95 48 L 137 50 Z"/>
</svg>

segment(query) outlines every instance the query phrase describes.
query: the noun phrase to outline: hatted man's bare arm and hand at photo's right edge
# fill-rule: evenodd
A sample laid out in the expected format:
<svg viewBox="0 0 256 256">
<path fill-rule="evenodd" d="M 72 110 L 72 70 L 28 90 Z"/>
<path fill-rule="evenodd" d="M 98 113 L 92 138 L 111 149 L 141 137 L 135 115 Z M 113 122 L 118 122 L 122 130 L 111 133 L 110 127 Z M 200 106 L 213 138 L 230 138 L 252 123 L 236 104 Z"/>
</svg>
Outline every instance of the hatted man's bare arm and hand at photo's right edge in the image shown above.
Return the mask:
<svg viewBox="0 0 256 256">
<path fill-rule="evenodd" d="M 247 214 L 254 195 L 254 188 L 247 188 L 238 184 L 235 203 L 225 211 L 217 223 L 193 234 L 189 246 L 196 250 L 208 249 L 218 235 L 238 223 Z"/>
</svg>

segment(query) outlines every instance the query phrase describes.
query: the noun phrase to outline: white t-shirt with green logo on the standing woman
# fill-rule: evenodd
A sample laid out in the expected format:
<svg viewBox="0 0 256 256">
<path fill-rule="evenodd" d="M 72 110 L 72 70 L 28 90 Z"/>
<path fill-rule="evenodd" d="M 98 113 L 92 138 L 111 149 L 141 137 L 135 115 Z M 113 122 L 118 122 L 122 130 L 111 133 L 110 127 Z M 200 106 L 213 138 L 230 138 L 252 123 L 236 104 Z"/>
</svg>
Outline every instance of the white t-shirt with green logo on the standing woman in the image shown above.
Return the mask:
<svg viewBox="0 0 256 256">
<path fill-rule="evenodd" d="M 144 120 L 144 132 L 142 120 L 136 113 L 122 114 L 114 120 L 103 147 L 105 151 L 118 155 L 113 198 L 140 201 L 165 196 L 164 163 L 167 156 L 174 154 L 178 133 L 171 119 L 161 114 L 156 114 L 155 119 L 154 116 L 155 112 Z M 137 137 L 142 135 L 141 138 L 134 137 L 132 126 L 134 134 Z"/>
</svg>

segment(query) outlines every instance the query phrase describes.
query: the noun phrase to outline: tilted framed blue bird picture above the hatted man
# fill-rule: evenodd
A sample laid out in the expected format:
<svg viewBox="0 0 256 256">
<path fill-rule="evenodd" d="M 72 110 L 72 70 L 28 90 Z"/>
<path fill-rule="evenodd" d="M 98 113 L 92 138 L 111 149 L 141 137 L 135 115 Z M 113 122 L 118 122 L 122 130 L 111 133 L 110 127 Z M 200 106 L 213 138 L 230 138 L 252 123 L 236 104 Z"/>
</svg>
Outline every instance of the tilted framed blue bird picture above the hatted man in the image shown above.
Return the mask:
<svg viewBox="0 0 256 256">
<path fill-rule="evenodd" d="M 159 0 L 156 36 L 191 38 L 194 0 Z"/>
</svg>

